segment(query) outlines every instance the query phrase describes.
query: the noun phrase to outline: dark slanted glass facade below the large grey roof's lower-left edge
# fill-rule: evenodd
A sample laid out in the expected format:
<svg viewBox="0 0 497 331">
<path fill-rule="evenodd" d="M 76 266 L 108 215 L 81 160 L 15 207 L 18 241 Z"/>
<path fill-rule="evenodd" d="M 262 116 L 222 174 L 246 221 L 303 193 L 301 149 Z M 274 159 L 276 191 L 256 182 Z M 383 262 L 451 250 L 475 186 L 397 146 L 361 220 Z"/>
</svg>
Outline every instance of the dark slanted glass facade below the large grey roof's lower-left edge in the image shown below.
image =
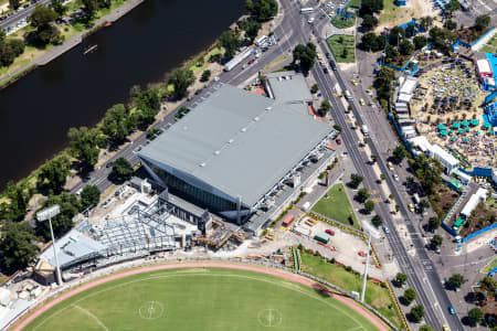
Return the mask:
<svg viewBox="0 0 497 331">
<path fill-rule="evenodd" d="M 236 203 L 190 185 L 186 181 L 170 174 L 169 172 L 146 160 L 141 161 L 146 162 L 147 166 L 150 167 L 150 169 L 168 185 L 168 189 L 172 194 L 176 194 L 200 207 L 207 209 L 210 212 L 219 213 L 225 211 L 236 211 Z"/>
</svg>

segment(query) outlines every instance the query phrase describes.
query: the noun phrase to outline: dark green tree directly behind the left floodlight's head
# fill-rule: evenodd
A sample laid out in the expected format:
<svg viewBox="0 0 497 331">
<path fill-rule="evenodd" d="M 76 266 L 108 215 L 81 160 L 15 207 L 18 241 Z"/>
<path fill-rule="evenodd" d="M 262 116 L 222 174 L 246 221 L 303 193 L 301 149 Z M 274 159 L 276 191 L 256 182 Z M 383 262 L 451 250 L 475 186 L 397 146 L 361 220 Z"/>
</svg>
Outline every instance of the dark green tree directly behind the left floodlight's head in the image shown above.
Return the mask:
<svg viewBox="0 0 497 331">
<path fill-rule="evenodd" d="M 73 227 L 73 218 L 80 212 L 81 204 L 76 195 L 62 192 L 59 195 L 49 196 L 41 210 L 54 204 L 61 206 L 61 213 L 52 217 L 53 234 L 55 238 L 60 238 Z M 51 241 L 49 222 L 36 221 L 36 234 L 43 237 L 45 242 Z"/>
</svg>

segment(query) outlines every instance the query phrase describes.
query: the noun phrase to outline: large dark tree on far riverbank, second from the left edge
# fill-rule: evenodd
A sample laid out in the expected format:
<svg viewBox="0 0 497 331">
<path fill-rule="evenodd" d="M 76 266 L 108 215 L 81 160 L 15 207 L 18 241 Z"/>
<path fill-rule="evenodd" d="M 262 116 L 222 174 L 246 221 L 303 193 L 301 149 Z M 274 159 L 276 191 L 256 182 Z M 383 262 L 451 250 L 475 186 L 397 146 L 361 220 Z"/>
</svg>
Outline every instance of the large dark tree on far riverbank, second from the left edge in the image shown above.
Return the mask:
<svg viewBox="0 0 497 331">
<path fill-rule="evenodd" d="M 57 13 L 44 6 L 38 6 L 29 18 L 30 24 L 36 29 L 34 31 L 34 38 L 41 43 L 54 43 L 62 42 L 61 33 L 57 28 L 53 25 L 53 22 L 57 19 Z"/>
</svg>

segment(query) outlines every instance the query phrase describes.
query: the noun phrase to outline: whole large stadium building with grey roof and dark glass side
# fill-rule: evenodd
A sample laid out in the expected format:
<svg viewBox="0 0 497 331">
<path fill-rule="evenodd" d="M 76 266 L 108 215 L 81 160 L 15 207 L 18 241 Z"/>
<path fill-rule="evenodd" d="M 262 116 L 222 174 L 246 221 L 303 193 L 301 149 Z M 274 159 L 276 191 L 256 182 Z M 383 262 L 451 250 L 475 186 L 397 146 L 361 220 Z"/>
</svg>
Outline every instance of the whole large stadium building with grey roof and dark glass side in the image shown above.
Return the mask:
<svg viewBox="0 0 497 331">
<path fill-rule="evenodd" d="M 256 232 L 330 163 L 336 132 L 307 103 L 224 85 L 138 157 L 169 192 Z"/>
</svg>

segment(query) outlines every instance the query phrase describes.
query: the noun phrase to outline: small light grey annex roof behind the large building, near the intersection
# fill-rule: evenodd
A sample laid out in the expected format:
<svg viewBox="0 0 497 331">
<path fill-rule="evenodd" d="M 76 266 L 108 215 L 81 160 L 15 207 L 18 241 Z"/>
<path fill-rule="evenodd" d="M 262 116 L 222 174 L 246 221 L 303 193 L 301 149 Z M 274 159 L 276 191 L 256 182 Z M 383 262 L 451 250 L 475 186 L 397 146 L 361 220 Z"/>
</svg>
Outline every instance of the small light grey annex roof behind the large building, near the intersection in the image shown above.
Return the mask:
<svg viewBox="0 0 497 331">
<path fill-rule="evenodd" d="M 266 75 L 276 103 L 310 102 L 309 87 L 302 74 L 293 71 L 271 73 Z"/>
</svg>

